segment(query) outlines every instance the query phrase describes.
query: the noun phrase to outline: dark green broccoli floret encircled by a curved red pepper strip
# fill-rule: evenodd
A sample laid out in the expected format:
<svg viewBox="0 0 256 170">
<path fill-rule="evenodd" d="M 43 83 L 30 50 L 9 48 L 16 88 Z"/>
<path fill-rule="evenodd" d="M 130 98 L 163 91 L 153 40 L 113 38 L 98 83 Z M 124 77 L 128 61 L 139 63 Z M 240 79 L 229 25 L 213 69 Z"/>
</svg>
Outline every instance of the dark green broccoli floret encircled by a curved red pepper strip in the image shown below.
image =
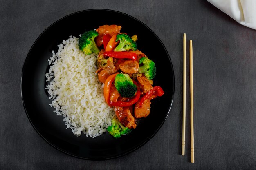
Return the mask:
<svg viewBox="0 0 256 170">
<path fill-rule="evenodd" d="M 115 88 L 121 97 L 133 97 L 137 91 L 137 86 L 133 83 L 128 74 L 117 74 L 115 77 Z"/>
</svg>

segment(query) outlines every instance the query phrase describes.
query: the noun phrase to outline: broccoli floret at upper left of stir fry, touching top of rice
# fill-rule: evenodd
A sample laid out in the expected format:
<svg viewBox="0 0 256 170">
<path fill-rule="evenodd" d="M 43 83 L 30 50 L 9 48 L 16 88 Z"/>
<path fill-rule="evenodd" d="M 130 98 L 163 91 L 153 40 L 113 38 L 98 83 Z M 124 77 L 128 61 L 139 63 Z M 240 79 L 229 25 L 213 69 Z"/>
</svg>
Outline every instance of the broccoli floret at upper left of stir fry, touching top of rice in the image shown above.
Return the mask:
<svg viewBox="0 0 256 170">
<path fill-rule="evenodd" d="M 95 30 L 85 31 L 78 40 L 79 49 L 82 50 L 85 55 L 91 53 L 98 54 L 99 49 L 94 41 L 94 38 L 99 34 Z"/>
</svg>

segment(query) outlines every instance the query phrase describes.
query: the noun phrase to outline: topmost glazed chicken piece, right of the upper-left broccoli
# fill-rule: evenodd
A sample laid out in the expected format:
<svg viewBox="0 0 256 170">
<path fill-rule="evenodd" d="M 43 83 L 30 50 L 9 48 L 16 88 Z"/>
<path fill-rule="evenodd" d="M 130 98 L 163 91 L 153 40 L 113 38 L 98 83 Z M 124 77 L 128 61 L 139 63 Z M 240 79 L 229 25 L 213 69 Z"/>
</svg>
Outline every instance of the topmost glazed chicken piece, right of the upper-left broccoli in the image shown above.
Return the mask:
<svg viewBox="0 0 256 170">
<path fill-rule="evenodd" d="M 103 25 L 96 29 L 98 32 L 98 36 L 95 38 L 95 42 L 97 46 L 101 46 L 103 44 L 103 36 L 105 34 L 109 34 L 111 37 L 114 34 L 119 34 L 121 30 L 121 26 L 117 25 Z"/>
</svg>

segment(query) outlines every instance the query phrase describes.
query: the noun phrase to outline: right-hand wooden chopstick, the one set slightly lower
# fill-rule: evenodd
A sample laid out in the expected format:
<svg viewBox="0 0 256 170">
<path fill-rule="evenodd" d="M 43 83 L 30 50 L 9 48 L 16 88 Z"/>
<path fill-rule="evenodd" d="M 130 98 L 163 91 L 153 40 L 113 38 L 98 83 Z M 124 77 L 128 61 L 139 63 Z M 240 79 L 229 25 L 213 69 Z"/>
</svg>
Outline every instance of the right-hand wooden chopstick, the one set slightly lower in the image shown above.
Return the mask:
<svg viewBox="0 0 256 170">
<path fill-rule="evenodd" d="M 190 68 L 190 136 L 191 136 L 191 163 L 195 162 L 194 148 L 194 92 L 193 92 L 193 47 L 189 41 L 189 68 Z"/>
</svg>

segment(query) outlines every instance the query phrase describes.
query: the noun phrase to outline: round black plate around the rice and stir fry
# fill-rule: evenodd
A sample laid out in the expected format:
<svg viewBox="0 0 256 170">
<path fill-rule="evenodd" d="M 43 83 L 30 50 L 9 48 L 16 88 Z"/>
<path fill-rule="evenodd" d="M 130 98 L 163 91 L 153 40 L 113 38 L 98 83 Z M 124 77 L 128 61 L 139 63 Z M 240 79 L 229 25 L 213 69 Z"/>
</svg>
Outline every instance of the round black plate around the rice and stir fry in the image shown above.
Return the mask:
<svg viewBox="0 0 256 170">
<path fill-rule="evenodd" d="M 91 138 L 76 137 L 66 129 L 63 117 L 53 113 L 51 100 L 45 90 L 48 59 L 57 45 L 70 35 L 78 37 L 84 31 L 101 25 L 121 25 L 121 32 L 138 36 L 138 49 L 155 62 L 157 75 L 154 85 L 161 86 L 165 94 L 152 100 L 151 113 L 141 119 L 130 135 L 114 139 L 108 133 Z M 110 159 L 125 155 L 144 145 L 164 123 L 171 109 L 174 94 L 173 66 L 157 35 L 145 24 L 118 11 L 92 9 L 67 15 L 49 26 L 34 42 L 25 60 L 21 95 L 27 117 L 38 134 L 54 148 L 82 159 Z"/>
</svg>

